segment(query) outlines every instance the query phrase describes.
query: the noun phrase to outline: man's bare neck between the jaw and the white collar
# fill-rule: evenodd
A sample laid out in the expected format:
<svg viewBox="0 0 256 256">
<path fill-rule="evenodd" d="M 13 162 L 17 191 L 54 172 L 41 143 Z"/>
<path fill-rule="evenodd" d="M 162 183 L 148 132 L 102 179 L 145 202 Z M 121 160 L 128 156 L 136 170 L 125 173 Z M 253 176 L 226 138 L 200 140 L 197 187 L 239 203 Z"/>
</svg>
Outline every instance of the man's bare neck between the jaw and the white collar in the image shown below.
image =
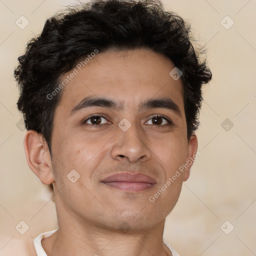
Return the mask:
<svg viewBox="0 0 256 256">
<path fill-rule="evenodd" d="M 162 241 L 165 218 L 151 225 L 143 217 L 133 222 L 126 218 L 130 225 L 120 221 L 118 226 L 118 219 L 109 223 L 103 215 L 95 220 L 71 211 L 59 196 L 55 203 L 58 230 L 41 241 L 48 256 L 172 256 Z"/>
</svg>

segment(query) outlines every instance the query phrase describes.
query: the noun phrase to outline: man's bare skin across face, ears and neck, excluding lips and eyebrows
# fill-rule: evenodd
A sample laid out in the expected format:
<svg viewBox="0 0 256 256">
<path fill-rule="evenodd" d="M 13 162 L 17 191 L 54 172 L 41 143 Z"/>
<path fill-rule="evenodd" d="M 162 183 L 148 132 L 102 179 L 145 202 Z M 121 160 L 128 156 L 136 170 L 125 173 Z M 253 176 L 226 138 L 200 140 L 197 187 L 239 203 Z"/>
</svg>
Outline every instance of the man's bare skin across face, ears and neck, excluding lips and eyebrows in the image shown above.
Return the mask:
<svg viewBox="0 0 256 256">
<path fill-rule="evenodd" d="M 165 217 L 192 163 L 154 202 L 148 198 L 197 150 L 196 135 L 186 137 L 182 83 L 169 75 L 173 68 L 171 60 L 150 49 L 99 52 L 62 88 L 53 119 L 52 160 L 41 134 L 26 132 L 28 165 L 42 183 L 53 183 L 55 194 L 59 229 L 42 240 L 47 255 L 171 255 L 162 242 Z M 93 106 L 69 116 L 88 95 L 123 102 L 124 108 Z M 171 98 L 181 116 L 165 108 L 138 111 L 141 101 L 155 97 Z M 107 116 L 99 118 L 101 126 L 91 119 L 81 124 L 93 113 Z M 163 118 L 153 124 L 154 114 L 173 124 Z M 123 118 L 131 123 L 127 131 L 118 127 Z M 74 183 L 67 178 L 72 169 L 80 175 Z M 142 172 L 156 184 L 127 192 L 100 182 L 118 171 Z M 120 230 L 121 223 L 128 231 Z"/>
</svg>

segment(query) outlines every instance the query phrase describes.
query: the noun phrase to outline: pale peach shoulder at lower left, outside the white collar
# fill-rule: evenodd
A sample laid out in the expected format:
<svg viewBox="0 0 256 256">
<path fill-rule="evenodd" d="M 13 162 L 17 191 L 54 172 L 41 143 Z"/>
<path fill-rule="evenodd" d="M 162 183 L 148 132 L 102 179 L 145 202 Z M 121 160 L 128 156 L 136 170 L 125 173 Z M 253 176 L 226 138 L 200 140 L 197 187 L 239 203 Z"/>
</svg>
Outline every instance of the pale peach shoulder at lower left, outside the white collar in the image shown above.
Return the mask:
<svg viewBox="0 0 256 256">
<path fill-rule="evenodd" d="M 2 245 L 0 256 L 37 256 L 32 236 L 24 238 L 2 237 L 1 241 L 6 242 Z"/>
</svg>

